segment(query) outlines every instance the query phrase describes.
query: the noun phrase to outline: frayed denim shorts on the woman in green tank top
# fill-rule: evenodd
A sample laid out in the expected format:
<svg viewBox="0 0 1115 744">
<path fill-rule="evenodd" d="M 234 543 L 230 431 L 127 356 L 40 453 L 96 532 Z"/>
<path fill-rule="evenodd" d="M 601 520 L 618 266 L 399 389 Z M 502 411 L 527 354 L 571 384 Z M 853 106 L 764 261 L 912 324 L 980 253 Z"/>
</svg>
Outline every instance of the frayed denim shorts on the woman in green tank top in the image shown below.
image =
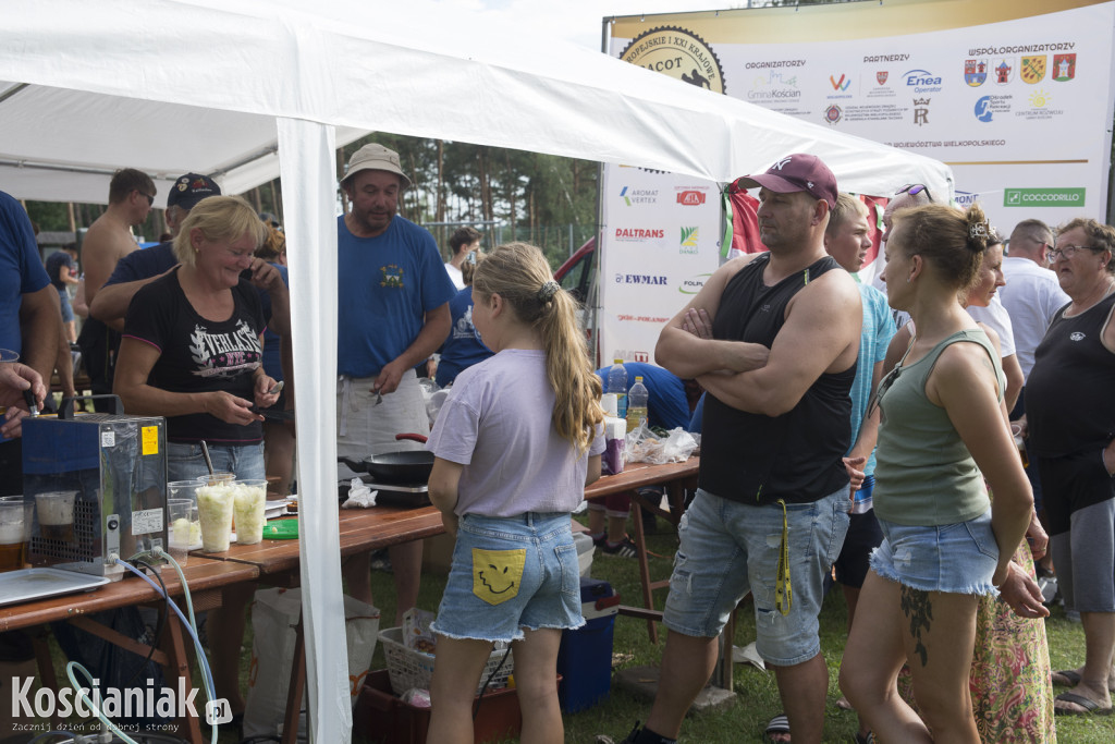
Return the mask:
<svg viewBox="0 0 1115 744">
<path fill-rule="evenodd" d="M 991 577 L 999 547 L 991 510 L 956 524 L 910 526 L 879 520 L 883 543 L 871 553 L 871 570 L 921 591 L 997 596 Z"/>
</svg>

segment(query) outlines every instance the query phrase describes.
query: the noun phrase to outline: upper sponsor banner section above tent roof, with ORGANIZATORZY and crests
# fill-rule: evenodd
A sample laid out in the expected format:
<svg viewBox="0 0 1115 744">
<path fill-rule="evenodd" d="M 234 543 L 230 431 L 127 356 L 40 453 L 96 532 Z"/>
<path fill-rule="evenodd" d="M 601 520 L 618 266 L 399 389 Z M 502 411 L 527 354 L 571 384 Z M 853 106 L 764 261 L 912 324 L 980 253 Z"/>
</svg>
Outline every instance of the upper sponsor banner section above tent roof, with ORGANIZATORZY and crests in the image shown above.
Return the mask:
<svg viewBox="0 0 1115 744">
<path fill-rule="evenodd" d="M 630 16 L 614 20 L 611 52 L 623 57 L 665 27 L 676 46 L 682 31 L 700 40 L 691 66 L 725 95 L 948 163 L 957 191 L 978 194 L 1000 230 L 1025 218 L 1105 218 L 1115 2 L 912 0 Z M 1028 201 L 1009 203 L 1008 193 Z"/>
</svg>

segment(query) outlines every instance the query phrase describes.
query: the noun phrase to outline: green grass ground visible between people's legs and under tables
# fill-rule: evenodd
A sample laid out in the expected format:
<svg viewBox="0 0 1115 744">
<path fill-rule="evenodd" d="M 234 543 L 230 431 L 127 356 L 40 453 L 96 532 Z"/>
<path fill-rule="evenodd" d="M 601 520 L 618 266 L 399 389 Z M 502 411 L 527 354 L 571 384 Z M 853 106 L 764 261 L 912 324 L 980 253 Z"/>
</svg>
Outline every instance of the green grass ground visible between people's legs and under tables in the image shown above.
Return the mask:
<svg viewBox="0 0 1115 744">
<path fill-rule="evenodd" d="M 659 522 L 663 525 L 663 522 Z M 672 533 L 648 537 L 648 547 L 656 554 L 650 559 L 651 574 L 665 578 L 669 574 L 671 557 L 677 548 Z M 609 581 L 623 597 L 626 603 L 638 603 L 640 596 L 639 574 L 633 559 L 604 559 L 599 553 L 592 564 L 592 576 Z M 436 610 L 440 600 L 445 578 L 424 574 L 419 606 Z M 394 582 L 387 573 L 372 573 L 372 589 L 384 618 L 395 616 Z M 665 590 L 659 592 L 658 602 L 665 600 Z M 830 592 L 821 616 L 821 645 L 830 670 L 828 703 L 825 711 L 825 742 L 853 742 L 855 732 L 854 714 L 841 711 L 835 702 L 840 696 L 836 674 L 844 650 L 844 625 L 846 616 L 840 592 Z M 1060 608 L 1055 608 L 1047 620 L 1050 656 L 1054 669 L 1074 667 L 1084 656 L 1084 634 L 1079 624 L 1067 620 Z M 663 632 L 665 637 L 665 632 Z M 737 646 L 746 646 L 755 639 L 755 621 L 752 612 L 738 616 Z M 242 684 L 246 687 L 248 665 L 251 649 L 251 626 L 244 639 L 241 658 Z M 617 618 L 614 627 L 614 664 L 618 668 L 657 665 L 662 651 L 660 640 L 651 645 L 647 637 L 646 622 L 631 618 Z M 384 668 L 382 649 L 377 647 L 372 668 Z M 65 677 L 64 677 L 65 678 Z M 196 677 L 195 677 L 196 678 Z M 772 673 L 749 665 L 737 665 L 734 676 L 737 700 L 729 708 L 715 713 L 690 715 L 681 729 L 681 741 L 694 744 L 744 744 L 762 742 L 767 721 L 780 711 L 778 690 Z M 591 744 L 598 734 L 607 734 L 615 741 L 622 740 L 637 719 L 646 719 L 650 702 L 613 686 L 611 696 L 604 703 L 576 714 L 565 716 L 565 741 L 575 744 Z M 1115 716 L 1058 717 L 1058 740 L 1063 744 L 1109 744 L 1115 742 Z M 2 738 L 2 735 L 0 735 Z M 205 740 L 206 742 L 209 738 Z M 220 744 L 239 744 L 231 732 L 222 732 Z M 505 743 L 506 744 L 506 743 Z"/>
</svg>

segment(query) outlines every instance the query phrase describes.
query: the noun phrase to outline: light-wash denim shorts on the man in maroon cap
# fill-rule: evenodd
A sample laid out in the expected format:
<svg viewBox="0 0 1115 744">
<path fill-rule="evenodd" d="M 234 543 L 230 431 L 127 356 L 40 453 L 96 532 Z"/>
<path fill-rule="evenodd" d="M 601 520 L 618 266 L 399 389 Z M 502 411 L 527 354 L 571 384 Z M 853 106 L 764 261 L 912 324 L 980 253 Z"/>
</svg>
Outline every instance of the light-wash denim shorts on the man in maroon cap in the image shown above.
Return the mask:
<svg viewBox="0 0 1115 744">
<path fill-rule="evenodd" d="M 783 615 L 775 606 L 782 506 L 753 506 L 698 490 L 681 516 L 666 627 L 699 638 L 716 636 L 750 591 L 759 656 L 775 666 L 808 661 L 821 653 L 817 615 L 825 577 L 847 532 L 850 504 L 846 485 L 813 503 L 786 504 L 793 601 Z"/>
</svg>

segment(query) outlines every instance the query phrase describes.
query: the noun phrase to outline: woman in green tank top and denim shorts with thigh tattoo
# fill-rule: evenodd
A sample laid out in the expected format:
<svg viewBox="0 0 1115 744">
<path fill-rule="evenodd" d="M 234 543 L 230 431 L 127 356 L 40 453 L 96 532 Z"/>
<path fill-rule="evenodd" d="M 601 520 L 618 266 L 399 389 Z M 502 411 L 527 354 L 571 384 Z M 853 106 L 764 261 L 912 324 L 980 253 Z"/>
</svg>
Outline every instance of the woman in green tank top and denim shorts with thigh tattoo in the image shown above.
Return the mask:
<svg viewBox="0 0 1115 744">
<path fill-rule="evenodd" d="M 918 335 L 876 392 L 885 540 L 841 668 L 844 694 L 885 741 L 980 741 L 968 690 L 976 611 L 1009 576 L 1032 512 L 998 354 L 957 301 L 977 278 L 988 233 L 978 205 L 929 205 L 898 212 L 886 240 L 888 301 L 911 315 Z M 896 694 L 906 663 L 921 717 Z"/>
</svg>

